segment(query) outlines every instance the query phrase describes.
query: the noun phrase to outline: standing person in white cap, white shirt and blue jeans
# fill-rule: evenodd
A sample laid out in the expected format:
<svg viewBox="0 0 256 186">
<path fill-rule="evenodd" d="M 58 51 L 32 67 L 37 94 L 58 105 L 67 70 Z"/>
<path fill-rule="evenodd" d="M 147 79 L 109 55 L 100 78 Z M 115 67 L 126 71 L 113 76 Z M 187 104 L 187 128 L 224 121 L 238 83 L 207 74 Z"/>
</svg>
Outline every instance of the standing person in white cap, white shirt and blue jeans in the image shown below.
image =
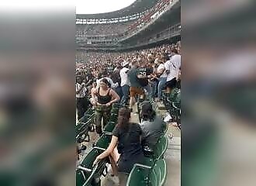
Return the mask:
<svg viewBox="0 0 256 186">
<path fill-rule="evenodd" d="M 129 62 L 123 61 L 122 66 L 123 66 L 123 68 L 120 71 L 121 88 L 123 91 L 123 97 L 121 99 L 121 104 L 124 106 L 124 105 L 127 105 L 127 102 L 129 99 L 129 90 L 130 90 L 130 82 L 128 81 Z"/>
</svg>

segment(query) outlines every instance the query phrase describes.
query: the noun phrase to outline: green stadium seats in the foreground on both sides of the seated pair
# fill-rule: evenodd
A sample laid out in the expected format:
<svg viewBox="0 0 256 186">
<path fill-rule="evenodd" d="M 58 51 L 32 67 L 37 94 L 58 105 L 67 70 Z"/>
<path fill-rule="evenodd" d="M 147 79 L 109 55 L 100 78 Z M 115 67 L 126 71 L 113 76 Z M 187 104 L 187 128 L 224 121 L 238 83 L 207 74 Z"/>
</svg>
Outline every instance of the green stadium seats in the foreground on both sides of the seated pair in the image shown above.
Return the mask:
<svg viewBox="0 0 256 186">
<path fill-rule="evenodd" d="M 81 161 L 81 164 L 78 165 L 76 170 L 76 185 L 98 185 L 99 177 L 101 175 L 107 174 L 106 164 L 109 163 L 108 158 L 99 161 L 96 165 L 93 166 L 95 158 L 102 153 L 109 146 L 112 136 L 112 130 L 116 126 L 116 119 L 118 116 L 119 107 L 121 105 L 114 104 L 112 105 L 111 117 L 108 124 L 103 130 L 103 135 L 97 140 L 93 145 L 92 150 L 90 150 L 87 155 Z M 85 136 L 85 133 L 88 133 L 88 128 L 92 126 L 93 121 L 93 110 L 88 109 L 85 112 L 85 116 L 80 119 L 76 126 L 76 136 L 79 139 L 79 136 Z M 81 125 L 86 126 L 84 128 Z M 85 132 L 85 128 L 87 129 Z M 129 174 L 127 186 L 133 186 L 138 183 L 141 185 L 150 185 L 150 186 L 163 186 L 167 177 L 167 165 L 164 160 L 164 153 L 168 147 L 168 137 L 165 133 L 158 140 L 154 151 L 150 156 L 144 157 L 144 164 L 134 164 L 132 171 Z M 82 140 L 79 140 L 78 143 L 82 143 Z M 100 184 L 99 184 L 100 185 Z"/>
</svg>

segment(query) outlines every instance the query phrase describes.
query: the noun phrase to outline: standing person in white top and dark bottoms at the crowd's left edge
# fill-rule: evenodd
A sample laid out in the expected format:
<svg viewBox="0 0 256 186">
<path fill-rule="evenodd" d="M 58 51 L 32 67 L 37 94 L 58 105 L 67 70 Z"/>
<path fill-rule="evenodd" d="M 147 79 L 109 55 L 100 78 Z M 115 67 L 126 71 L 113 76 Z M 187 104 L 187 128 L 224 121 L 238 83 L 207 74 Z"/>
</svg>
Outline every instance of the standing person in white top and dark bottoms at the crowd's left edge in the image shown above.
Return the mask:
<svg viewBox="0 0 256 186">
<path fill-rule="evenodd" d="M 82 82 L 81 77 L 76 78 L 75 93 L 79 120 L 88 109 L 88 99 L 86 98 L 85 82 Z"/>
</svg>

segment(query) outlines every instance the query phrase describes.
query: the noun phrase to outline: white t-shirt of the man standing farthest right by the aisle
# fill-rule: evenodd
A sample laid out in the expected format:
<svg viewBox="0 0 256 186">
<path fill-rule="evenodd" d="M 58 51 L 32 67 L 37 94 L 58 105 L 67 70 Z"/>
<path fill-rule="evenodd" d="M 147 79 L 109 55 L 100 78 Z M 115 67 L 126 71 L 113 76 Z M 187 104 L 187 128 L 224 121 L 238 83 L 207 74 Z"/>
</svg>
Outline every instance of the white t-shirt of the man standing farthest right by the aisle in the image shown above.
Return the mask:
<svg viewBox="0 0 256 186">
<path fill-rule="evenodd" d="M 169 74 L 167 74 L 167 80 L 171 81 L 171 79 L 178 77 L 178 71 L 182 64 L 182 57 L 181 55 L 175 54 L 171 57 L 170 60 L 165 62 L 164 67 L 167 71 L 170 71 Z"/>
</svg>

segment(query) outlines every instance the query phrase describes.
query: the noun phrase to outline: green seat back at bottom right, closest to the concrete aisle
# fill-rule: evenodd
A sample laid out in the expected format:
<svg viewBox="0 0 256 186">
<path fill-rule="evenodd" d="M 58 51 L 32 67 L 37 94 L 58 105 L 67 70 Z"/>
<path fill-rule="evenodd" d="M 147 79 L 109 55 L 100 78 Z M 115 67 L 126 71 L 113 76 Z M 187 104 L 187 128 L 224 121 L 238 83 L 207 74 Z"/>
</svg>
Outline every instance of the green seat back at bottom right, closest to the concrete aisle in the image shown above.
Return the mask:
<svg viewBox="0 0 256 186">
<path fill-rule="evenodd" d="M 159 159 L 150 172 L 150 186 L 162 186 L 166 180 L 167 166 L 164 159 Z"/>
</svg>

